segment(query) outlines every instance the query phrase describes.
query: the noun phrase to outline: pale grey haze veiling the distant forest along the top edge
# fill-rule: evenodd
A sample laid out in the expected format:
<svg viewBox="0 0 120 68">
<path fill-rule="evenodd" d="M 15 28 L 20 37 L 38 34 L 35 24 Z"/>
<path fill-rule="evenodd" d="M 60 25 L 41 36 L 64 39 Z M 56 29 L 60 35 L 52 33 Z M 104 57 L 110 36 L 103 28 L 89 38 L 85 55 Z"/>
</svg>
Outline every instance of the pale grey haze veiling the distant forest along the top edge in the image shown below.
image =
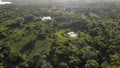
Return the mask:
<svg viewBox="0 0 120 68">
<path fill-rule="evenodd" d="M 89 8 L 90 5 L 95 4 L 103 6 L 107 3 L 119 4 L 119 0 L 0 0 L 0 2 L 10 2 L 14 5 L 35 5 L 35 6 L 48 6 L 48 7 L 62 7 L 62 8 L 75 8 L 83 7 Z M 9 4 L 9 3 L 8 3 Z"/>
</svg>

